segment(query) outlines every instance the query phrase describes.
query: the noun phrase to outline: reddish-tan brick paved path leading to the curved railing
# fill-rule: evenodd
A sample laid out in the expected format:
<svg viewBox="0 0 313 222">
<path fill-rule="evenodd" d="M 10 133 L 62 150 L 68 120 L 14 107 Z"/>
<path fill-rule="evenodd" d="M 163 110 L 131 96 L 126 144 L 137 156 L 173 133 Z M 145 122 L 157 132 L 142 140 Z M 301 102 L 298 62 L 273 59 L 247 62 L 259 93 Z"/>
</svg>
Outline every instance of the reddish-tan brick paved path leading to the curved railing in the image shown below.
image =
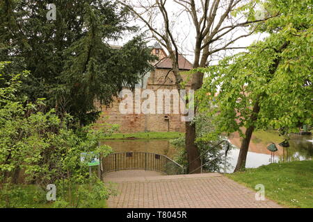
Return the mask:
<svg viewBox="0 0 313 222">
<path fill-rule="evenodd" d="M 149 172 L 149 171 L 147 171 Z M 118 196 L 109 207 L 281 207 L 271 200 L 255 200 L 255 192 L 219 173 L 175 176 L 105 177 L 117 183 Z"/>
</svg>

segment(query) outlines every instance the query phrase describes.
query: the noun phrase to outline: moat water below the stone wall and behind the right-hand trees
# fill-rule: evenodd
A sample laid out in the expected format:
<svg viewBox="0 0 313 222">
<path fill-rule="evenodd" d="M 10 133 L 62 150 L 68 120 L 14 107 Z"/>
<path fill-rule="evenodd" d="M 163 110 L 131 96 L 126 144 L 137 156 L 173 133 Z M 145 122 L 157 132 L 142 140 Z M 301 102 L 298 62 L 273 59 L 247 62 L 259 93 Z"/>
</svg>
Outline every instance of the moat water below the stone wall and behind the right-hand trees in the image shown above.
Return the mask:
<svg viewBox="0 0 313 222">
<path fill-rule="evenodd" d="M 234 145 L 227 155 L 228 167 L 226 172 L 231 173 L 234 171 L 239 155 L 241 139 L 238 133 L 232 134 L 228 139 Z M 278 143 L 283 140 L 275 131 L 259 131 L 252 135 L 246 167 L 255 168 L 272 162 L 271 152 L 266 149 L 269 141 L 274 142 L 278 147 L 278 151 L 275 152 L 274 162 L 312 160 L 312 135 L 291 135 L 289 148 L 278 146 Z M 174 159 L 177 155 L 177 149 L 170 144 L 170 139 L 108 139 L 102 143 L 111 146 L 115 152 L 149 152 L 166 155 L 171 159 Z"/>
</svg>

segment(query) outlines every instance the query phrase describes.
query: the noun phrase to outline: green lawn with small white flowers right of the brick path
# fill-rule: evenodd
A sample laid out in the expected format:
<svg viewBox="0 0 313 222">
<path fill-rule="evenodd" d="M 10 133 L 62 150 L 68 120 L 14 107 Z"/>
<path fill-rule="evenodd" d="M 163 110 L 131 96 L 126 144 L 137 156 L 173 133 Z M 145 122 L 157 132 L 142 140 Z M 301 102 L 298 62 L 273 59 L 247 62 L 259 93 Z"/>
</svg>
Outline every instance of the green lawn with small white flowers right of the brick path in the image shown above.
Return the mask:
<svg viewBox="0 0 313 222">
<path fill-rule="evenodd" d="M 285 207 L 313 207 L 313 160 L 268 164 L 226 176 L 252 189 L 263 184 L 265 196 Z"/>
</svg>

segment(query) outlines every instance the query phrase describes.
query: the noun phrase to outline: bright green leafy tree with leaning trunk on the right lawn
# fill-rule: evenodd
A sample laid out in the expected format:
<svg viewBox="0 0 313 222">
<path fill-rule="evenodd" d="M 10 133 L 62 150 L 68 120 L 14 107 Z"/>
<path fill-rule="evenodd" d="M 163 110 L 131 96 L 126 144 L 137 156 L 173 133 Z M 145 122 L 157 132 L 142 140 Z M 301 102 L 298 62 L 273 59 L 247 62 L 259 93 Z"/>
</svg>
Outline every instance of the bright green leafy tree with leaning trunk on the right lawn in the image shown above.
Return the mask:
<svg viewBox="0 0 313 222">
<path fill-rule="evenodd" d="M 280 12 L 260 29 L 270 34 L 264 41 L 216 67 L 199 69 L 209 74 L 198 94 L 202 109 L 212 105 L 208 111 L 219 132 L 239 131 L 243 137 L 235 171 L 245 167 L 254 130 L 292 132 L 312 125 L 312 1 L 268 0 L 264 8 Z"/>
</svg>

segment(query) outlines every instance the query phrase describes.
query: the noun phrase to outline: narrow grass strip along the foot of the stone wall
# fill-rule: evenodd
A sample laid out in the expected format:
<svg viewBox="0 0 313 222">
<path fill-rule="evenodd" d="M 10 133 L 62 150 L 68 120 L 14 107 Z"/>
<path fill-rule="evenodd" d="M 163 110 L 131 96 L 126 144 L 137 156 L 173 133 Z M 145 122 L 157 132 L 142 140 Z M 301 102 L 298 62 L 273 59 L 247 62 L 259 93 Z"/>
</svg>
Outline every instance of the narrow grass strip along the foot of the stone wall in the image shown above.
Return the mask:
<svg viewBox="0 0 313 222">
<path fill-rule="evenodd" d="M 102 137 L 102 139 L 176 139 L 183 135 L 184 133 L 179 132 L 113 133 L 113 135 Z"/>
</svg>

